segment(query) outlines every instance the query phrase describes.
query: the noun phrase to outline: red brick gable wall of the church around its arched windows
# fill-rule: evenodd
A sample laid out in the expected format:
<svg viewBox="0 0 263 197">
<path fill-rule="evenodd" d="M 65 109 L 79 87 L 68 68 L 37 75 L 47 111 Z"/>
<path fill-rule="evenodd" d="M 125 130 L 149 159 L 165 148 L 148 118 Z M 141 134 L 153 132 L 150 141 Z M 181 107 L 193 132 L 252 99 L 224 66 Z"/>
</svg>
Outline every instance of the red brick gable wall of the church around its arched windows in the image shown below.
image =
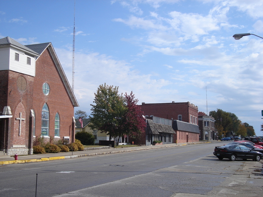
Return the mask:
<svg viewBox="0 0 263 197">
<path fill-rule="evenodd" d="M 45 82 L 50 87 L 49 95 L 43 94 L 42 85 Z M 57 112 L 60 116 L 60 139 L 63 139 L 63 136 L 72 136 L 74 107 L 48 49 L 36 61 L 36 76 L 33 89 L 33 109 L 36 114 L 35 135 L 41 135 L 42 108 L 47 103 L 49 107 L 49 136 L 54 137 L 54 122 Z"/>
</svg>

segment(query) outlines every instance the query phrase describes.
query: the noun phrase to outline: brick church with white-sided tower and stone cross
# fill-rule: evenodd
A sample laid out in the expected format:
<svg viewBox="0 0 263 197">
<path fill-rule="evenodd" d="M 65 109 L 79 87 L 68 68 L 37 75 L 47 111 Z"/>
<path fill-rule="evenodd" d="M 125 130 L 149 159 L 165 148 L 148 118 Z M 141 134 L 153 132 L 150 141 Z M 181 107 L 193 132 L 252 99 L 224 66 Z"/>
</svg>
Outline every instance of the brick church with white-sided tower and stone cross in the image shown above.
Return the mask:
<svg viewBox="0 0 263 197">
<path fill-rule="evenodd" d="M 0 39 L 0 149 L 32 154 L 36 137 L 74 141 L 77 100 L 51 43 Z"/>
</svg>

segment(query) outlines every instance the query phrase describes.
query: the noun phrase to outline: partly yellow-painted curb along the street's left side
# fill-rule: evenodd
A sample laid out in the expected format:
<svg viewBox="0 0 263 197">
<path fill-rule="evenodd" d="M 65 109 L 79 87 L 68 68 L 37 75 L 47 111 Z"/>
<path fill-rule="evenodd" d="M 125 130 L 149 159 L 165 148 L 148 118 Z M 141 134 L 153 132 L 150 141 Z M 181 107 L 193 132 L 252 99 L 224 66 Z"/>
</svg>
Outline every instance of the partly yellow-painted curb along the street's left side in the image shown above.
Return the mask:
<svg viewBox="0 0 263 197">
<path fill-rule="evenodd" d="M 200 144 L 200 143 L 196 143 L 196 144 Z M 158 146 L 157 145 L 157 146 L 148 147 L 148 148 L 116 150 L 116 151 L 107 151 L 107 152 L 102 152 L 102 153 L 89 153 L 89 154 L 69 155 L 69 156 L 62 156 L 62 157 L 48 157 L 48 158 L 40 158 L 40 159 L 0 161 L 0 165 L 7 165 L 7 164 L 14 164 L 14 163 L 29 163 L 29 162 L 51 161 L 51 160 L 58 160 L 58 159 L 88 157 L 88 156 L 105 155 L 105 154 L 113 154 L 113 153 L 125 153 L 125 152 L 131 152 L 131 151 L 148 150 L 148 149 L 159 149 L 159 148 L 185 146 L 185 145 L 188 145 L 188 144 L 179 144 L 179 145 L 176 144 L 176 145 L 167 145 L 167 146 Z"/>
</svg>

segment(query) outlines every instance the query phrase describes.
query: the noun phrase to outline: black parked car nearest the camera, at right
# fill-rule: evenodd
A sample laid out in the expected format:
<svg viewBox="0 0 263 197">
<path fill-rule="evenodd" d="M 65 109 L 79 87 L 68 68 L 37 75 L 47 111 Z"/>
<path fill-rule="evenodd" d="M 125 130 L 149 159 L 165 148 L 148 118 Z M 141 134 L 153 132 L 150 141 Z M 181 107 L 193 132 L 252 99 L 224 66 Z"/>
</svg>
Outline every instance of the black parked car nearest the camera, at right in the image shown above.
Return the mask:
<svg viewBox="0 0 263 197">
<path fill-rule="evenodd" d="M 244 145 L 227 144 L 220 147 L 216 146 L 214 149 L 214 155 L 220 160 L 228 158 L 230 161 L 235 161 L 236 159 L 252 159 L 253 161 L 260 161 L 263 154 L 253 151 Z"/>
</svg>

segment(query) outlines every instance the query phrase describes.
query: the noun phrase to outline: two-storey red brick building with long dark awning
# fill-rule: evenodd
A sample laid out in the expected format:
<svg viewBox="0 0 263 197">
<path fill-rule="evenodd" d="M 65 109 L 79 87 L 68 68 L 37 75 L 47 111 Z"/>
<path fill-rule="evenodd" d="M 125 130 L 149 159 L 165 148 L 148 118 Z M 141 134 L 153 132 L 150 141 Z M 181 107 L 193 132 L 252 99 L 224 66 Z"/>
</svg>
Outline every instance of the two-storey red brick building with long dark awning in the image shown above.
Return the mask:
<svg viewBox="0 0 263 197">
<path fill-rule="evenodd" d="M 184 103 L 142 103 L 145 117 L 160 117 L 172 121 L 174 143 L 199 141 L 198 107 L 190 102 Z"/>
</svg>

